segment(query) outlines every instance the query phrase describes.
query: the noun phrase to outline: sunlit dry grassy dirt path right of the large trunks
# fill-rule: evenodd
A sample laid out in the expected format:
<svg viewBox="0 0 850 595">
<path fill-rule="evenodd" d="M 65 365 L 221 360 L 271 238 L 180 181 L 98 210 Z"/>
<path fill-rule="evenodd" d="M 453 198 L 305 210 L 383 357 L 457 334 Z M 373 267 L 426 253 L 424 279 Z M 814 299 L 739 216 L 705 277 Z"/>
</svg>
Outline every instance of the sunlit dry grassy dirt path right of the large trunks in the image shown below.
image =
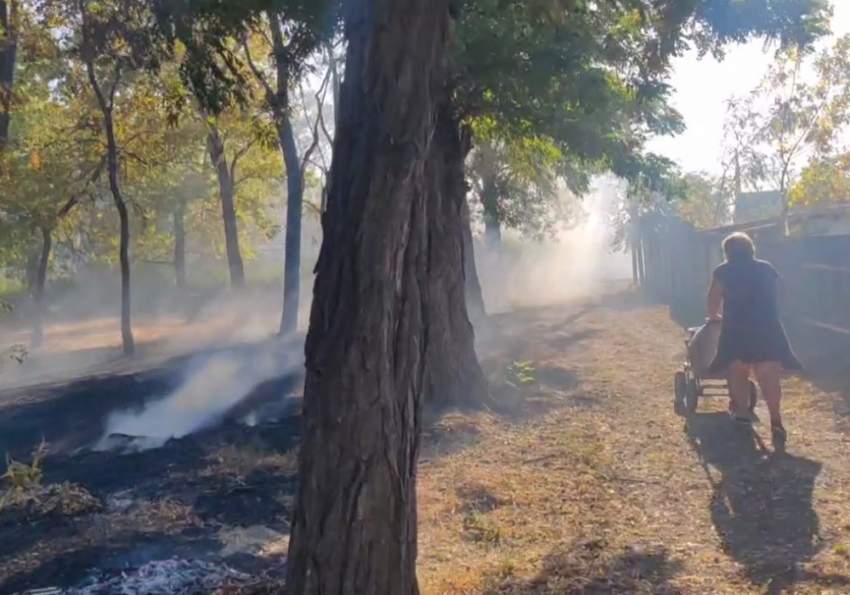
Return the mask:
<svg viewBox="0 0 850 595">
<path fill-rule="evenodd" d="M 767 424 L 742 433 L 723 398 L 674 413 L 683 332 L 664 308 L 618 296 L 497 326 L 511 347 L 490 355 L 493 373 L 530 362 L 536 383 L 512 419 L 438 427 L 420 490 L 424 593 L 850 592 L 837 397 L 788 381 L 777 455 Z"/>
</svg>

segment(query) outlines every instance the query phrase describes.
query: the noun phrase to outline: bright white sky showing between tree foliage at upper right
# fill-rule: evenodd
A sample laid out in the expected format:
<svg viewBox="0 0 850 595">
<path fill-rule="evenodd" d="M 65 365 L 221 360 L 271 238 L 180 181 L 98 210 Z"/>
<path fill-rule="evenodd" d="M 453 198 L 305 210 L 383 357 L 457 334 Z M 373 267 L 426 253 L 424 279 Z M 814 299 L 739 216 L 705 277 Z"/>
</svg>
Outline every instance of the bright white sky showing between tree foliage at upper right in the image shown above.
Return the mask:
<svg viewBox="0 0 850 595">
<path fill-rule="evenodd" d="M 835 0 L 834 4 L 833 36 L 850 33 L 850 0 Z M 830 42 L 825 40 L 819 46 Z M 771 50 L 765 53 L 758 40 L 732 47 L 723 62 L 710 56 L 700 60 L 696 52 L 676 60 L 672 103 L 687 129 L 676 137 L 653 139 L 649 148 L 673 159 L 685 171 L 721 173 L 724 103 L 758 85 L 770 62 Z"/>
</svg>

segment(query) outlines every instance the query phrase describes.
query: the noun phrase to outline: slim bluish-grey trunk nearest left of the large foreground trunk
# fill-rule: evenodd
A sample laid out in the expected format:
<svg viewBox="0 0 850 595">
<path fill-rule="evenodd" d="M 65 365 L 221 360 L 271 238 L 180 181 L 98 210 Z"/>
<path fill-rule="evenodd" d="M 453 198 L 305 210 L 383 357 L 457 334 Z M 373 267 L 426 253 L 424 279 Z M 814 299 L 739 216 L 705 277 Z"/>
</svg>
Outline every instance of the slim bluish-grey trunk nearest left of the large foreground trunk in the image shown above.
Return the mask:
<svg viewBox="0 0 850 595">
<path fill-rule="evenodd" d="M 272 50 L 277 73 L 275 97 L 275 125 L 286 165 L 286 253 L 283 262 L 283 313 L 280 317 L 280 334 L 294 333 L 298 328 L 298 298 L 301 294 L 301 212 L 304 206 L 304 180 L 298 159 L 298 145 L 292 122 L 289 120 L 289 61 L 283 41 L 280 18 L 269 13 Z"/>
</svg>

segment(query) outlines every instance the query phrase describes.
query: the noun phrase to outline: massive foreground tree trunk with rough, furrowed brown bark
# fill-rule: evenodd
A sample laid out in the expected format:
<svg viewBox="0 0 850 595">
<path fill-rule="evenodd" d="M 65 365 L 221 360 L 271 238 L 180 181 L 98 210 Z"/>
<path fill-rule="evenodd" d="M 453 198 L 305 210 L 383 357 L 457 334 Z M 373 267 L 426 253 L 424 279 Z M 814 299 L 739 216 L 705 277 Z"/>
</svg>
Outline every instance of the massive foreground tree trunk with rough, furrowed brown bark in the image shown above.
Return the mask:
<svg viewBox="0 0 850 595">
<path fill-rule="evenodd" d="M 431 303 L 426 179 L 449 0 L 352 0 L 305 345 L 287 588 L 413 595 Z"/>
</svg>

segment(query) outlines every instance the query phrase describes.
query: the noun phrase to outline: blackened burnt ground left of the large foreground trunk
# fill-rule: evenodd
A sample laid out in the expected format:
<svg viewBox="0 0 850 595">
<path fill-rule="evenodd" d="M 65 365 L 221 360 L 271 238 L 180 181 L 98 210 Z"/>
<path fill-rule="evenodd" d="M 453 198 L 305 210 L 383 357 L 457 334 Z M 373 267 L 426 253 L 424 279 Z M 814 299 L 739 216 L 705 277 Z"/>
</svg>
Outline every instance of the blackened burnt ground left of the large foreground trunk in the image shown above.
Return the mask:
<svg viewBox="0 0 850 595">
<path fill-rule="evenodd" d="M 251 350 L 268 348 L 236 349 L 250 358 Z M 49 450 L 39 465 L 44 487 L 0 506 L 0 592 L 71 586 L 93 569 L 120 572 L 172 556 L 224 559 L 252 574 L 280 566 L 279 556 L 246 554 L 244 547 L 230 554 L 228 539 L 234 528 L 288 533 L 300 374 L 261 383 L 213 428 L 162 448 L 89 448 L 103 437 L 110 413 L 141 411 L 166 397 L 198 355 L 138 373 L 0 393 L 0 449 L 23 463 L 42 440 Z M 289 412 L 282 419 L 239 423 L 284 396 Z"/>
</svg>

